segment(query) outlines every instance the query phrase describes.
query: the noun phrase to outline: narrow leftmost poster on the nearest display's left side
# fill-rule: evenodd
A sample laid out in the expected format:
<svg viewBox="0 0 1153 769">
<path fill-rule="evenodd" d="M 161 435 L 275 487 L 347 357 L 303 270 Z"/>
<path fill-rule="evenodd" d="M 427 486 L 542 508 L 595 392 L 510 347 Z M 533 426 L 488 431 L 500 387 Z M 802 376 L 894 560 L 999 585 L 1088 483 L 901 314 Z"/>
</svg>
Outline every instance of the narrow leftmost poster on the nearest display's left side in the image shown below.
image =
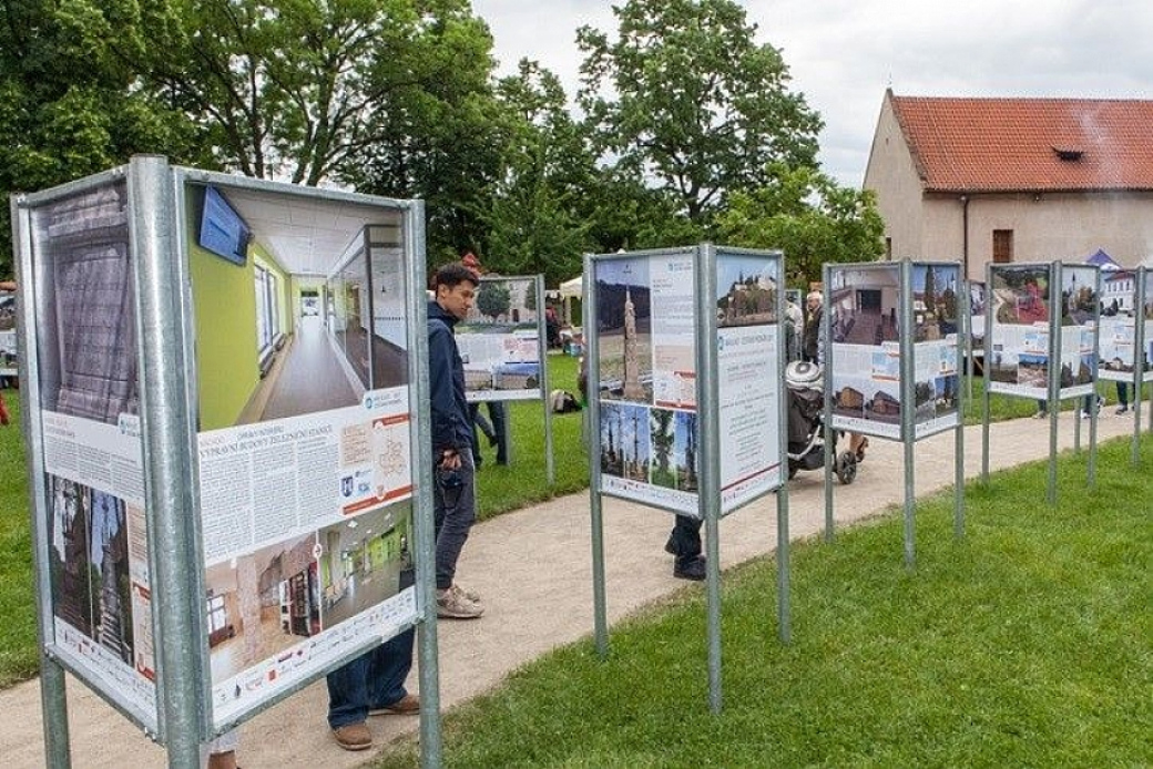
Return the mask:
<svg viewBox="0 0 1153 769">
<path fill-rule="evenodd" d="M 110 701 L 156 724 L 127 184 L 30 212 L 52 628 Z"/>
</svg>

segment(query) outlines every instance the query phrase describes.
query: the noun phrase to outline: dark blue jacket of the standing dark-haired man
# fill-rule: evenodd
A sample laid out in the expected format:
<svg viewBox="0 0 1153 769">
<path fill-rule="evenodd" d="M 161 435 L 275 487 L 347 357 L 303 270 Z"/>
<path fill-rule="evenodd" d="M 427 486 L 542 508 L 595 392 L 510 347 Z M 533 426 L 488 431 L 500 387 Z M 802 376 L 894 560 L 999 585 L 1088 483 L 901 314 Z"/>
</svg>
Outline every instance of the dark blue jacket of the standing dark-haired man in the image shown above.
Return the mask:
<svg viewBox="0 0 1153 769">
<path fill-rule="evenodd" d="M 473 425 L 465 399 L 465 364 L 457 349 L 457 318 L 429 302 L 429 389 L 432 412 L 432 452 L 473 447 Z"/>
</svg>

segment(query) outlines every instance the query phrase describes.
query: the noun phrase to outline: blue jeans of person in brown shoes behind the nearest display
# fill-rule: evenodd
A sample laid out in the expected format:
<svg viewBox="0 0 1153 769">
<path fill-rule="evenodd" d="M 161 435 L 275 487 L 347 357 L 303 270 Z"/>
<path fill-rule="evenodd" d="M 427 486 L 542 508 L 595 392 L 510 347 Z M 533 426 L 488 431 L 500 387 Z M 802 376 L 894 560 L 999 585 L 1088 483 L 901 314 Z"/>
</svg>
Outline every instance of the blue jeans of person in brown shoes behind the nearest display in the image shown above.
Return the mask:
<svg viewBox="0 0 1153 769">
<path fill-rule="evenodd" d="M 412 571 L 401 572 L 401 589 L 412 585 Z M 369 710 L 386 708 L 405 698 L 415 636 L 416 629 L 409 627 L 329 673 L 329 726 L 362 724 Z"/>
</svg>

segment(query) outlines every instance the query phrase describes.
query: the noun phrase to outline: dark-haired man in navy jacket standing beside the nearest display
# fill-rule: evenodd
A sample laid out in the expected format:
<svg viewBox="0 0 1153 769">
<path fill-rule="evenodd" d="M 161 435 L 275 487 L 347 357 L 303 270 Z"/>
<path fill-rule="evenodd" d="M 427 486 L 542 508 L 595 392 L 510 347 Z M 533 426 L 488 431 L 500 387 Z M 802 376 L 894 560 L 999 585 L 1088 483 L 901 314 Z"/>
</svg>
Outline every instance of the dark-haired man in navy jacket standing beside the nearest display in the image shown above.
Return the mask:
<svg viewBox="0 0 1153 769">
<path fill-rule="evenodd" d="M 476 520 L 476 465 L 473 421 L 465 399 L 465 364 L 454 329 L 473 307 L 476 274 L 460 263 L 446 264 L 432 277 L 428 309 L 429 387 L 432 413 L 432 461 L 436 466 L 437 616 L 474 619 L 484 611 L 475 594 L 454 581 L 457 560 Z"/>
</svg>

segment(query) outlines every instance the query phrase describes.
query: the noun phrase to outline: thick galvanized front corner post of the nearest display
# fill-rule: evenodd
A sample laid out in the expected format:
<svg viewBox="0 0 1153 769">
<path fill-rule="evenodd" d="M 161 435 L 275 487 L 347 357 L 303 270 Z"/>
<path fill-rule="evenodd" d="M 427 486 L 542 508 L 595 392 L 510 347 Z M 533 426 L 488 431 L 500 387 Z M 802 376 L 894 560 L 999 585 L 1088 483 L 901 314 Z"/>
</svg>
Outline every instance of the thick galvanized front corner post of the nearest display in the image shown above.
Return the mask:
<svg viewBox="0 0 1153 769">
<path fill-rule="evenodd" d="M 129 243 L 136 272 L 144 498 L 157 644 L 160 732 L 169 767 L 198 769 L 209 737 L 203 570 L 193 499 L 183 311 L 172 171 L 165 158 L 128 166 Z M 176 262 L 178 264 L 174 264 Z"/>
</svg>

